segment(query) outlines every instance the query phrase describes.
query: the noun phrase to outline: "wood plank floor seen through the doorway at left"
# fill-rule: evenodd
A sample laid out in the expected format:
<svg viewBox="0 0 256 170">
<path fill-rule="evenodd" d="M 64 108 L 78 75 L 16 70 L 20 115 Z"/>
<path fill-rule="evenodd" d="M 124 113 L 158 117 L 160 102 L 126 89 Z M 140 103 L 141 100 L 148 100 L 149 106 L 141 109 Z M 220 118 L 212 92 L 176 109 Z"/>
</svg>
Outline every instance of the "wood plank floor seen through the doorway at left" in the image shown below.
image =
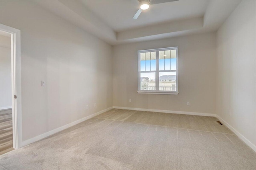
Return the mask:
<svg viewBox="0 0 256 170">
<path fill-rule="evenodd" d="M 0 110 L 0 155 L 13 149 L 12 109 Z"/>
</svg>

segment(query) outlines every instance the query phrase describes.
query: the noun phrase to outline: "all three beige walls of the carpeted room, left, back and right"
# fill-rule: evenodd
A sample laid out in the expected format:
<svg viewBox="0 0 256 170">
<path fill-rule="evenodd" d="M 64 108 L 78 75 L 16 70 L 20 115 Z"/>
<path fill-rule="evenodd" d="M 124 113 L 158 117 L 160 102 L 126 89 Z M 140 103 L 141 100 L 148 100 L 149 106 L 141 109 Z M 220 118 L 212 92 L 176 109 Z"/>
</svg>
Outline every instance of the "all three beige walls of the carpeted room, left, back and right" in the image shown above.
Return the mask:
<svg viewBox="0 0 256 170">
<path fill-rule="evenodd" d="M 256 145 L 255 3 L 238 6 L 217 43 L 204 33 L 112 48 L 32 1 L 1 0 L 0 22 L 21 30 L 23 141 L 120 106 L 217 113 Z M 180 93 L 138 94 L 137 51 L 176 46 Z"/>
</svg>

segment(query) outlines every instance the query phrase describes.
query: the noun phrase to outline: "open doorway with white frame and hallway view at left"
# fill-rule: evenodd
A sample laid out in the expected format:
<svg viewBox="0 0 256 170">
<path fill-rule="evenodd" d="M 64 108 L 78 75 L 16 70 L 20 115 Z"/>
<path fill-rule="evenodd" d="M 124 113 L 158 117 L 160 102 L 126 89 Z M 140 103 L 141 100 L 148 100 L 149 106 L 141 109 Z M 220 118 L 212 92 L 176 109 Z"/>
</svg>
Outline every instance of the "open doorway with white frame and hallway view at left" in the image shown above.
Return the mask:
<svg viewBox="0 0 256 170">
<path fill-rule="evenodd" d="M 0 154 L 22 147 L 20 30 L 0 24 Z"/>
</svg>

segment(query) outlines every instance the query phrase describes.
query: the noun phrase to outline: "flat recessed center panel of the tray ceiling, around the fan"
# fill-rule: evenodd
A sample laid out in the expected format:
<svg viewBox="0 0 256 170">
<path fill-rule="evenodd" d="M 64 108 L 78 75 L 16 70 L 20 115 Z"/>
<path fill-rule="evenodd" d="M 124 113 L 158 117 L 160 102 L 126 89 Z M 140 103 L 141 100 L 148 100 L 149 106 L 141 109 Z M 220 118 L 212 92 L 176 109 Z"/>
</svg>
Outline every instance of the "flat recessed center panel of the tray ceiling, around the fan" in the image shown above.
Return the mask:
<svg viewBox="0 0 256 170">
<path fill-rule="evenodd" d="M 92 12 L 116 32 L 131 28 L 203 17 L 208 0 L 179 0 L 151 5 L 137 20 L 132 17 L 139 9 L 138 0 L 82 0 Z"/>
</svg>

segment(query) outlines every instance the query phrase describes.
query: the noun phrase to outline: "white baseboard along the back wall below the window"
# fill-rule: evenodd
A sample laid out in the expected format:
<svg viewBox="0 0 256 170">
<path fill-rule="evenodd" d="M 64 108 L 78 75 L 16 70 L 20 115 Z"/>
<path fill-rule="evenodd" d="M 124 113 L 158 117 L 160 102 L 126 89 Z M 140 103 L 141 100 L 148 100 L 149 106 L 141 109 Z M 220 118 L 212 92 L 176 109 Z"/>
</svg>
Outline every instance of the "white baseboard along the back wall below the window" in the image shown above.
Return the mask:
<svg viewBox="0 0 256 170">
<path fill-rule="evenodd" d="M 212 117 L 216 117 L 216 114 L 212 114 L 212 113 L 198 113 L 198 112 L 190 112 L 190 111 L 142 109 L 142 108 L 118 107 L 118 106 L 113 106 L 113 108 L 114 109 L 126 109 L 126 110 L 138 110 L 138 111 L 153 111 L 153 112 L 161 112 L 161 113 L 175 113 L 175 114 L 184 114 L 184 115 L 198 115 L 198 116 L 212 116 Z"/>
</svg>

